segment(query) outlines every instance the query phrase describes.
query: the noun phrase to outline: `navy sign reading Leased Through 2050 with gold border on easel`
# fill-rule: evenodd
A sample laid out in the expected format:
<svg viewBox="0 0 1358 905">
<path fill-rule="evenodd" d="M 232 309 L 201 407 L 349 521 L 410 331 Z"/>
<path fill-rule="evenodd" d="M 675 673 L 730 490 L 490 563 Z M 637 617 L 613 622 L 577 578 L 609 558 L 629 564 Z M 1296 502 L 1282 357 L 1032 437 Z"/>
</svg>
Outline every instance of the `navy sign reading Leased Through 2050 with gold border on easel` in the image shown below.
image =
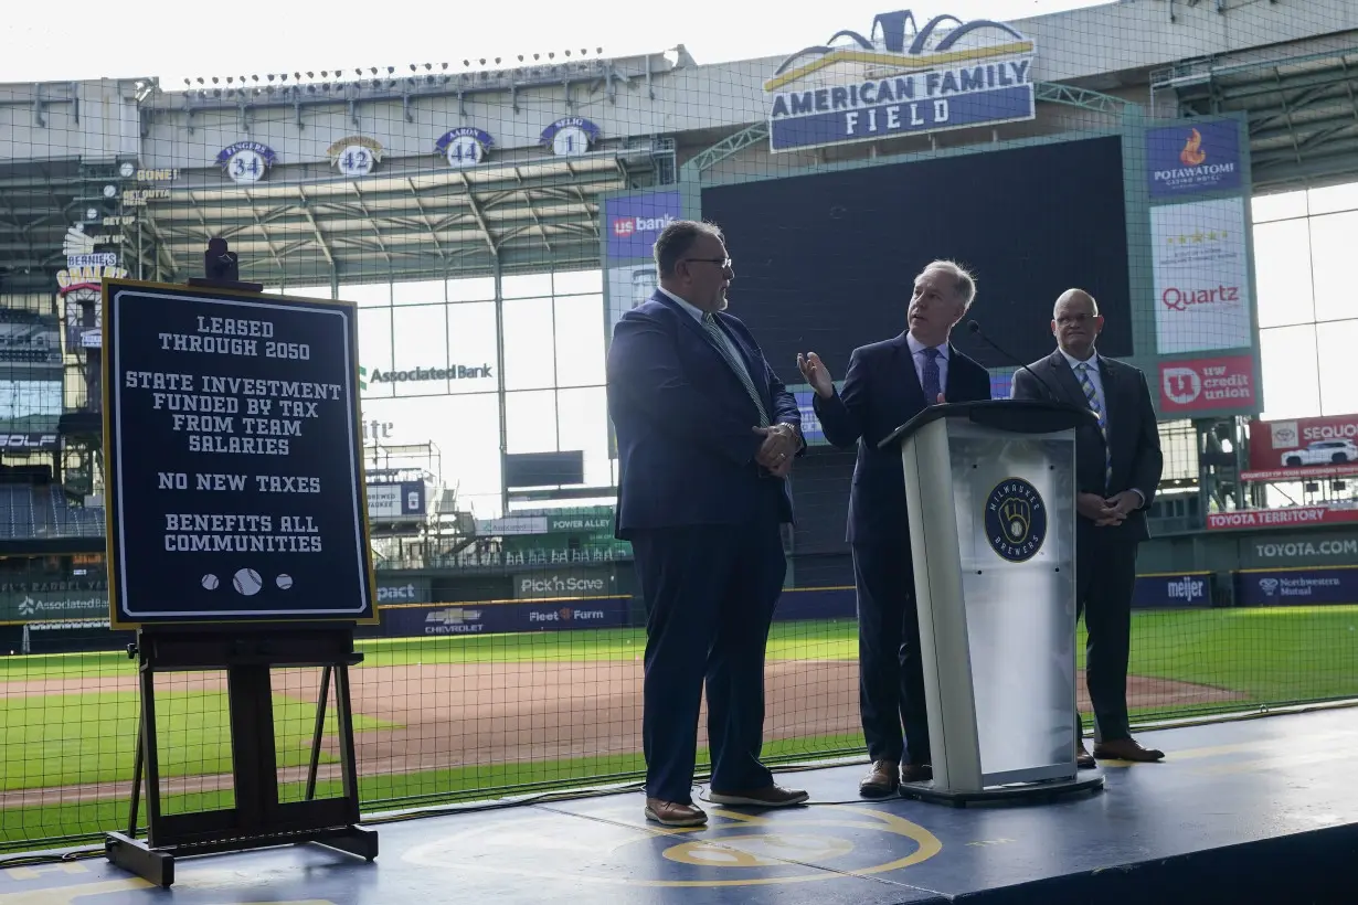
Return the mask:
<svg viewBox="0 0 1358 905">
<path fill-rule="evenodd" d="M 110 280 L 114 625 L 371 620 L 353 305 Z"/>
</svg>

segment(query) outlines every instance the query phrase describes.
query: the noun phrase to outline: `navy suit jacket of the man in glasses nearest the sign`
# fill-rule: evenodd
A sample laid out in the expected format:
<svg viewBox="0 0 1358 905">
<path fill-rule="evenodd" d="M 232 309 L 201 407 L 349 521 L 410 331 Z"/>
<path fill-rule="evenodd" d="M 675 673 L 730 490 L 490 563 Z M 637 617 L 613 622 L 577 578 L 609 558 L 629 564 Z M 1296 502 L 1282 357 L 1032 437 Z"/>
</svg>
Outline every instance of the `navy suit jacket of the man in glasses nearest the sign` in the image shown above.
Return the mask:
<svg viewBox="0 0 1358 905">
<path fill-rule="evenodd" d="M 755 338 L 725 312 L 717 322 L 750 368 L 769 419 L 800 431 L 797 400 Z M 755 463 L 763 444 L 754 431 L 758 408 L 702 324 L 660 292 L 614 328 L 608 414 L 618 436 L 621 540 L 648 528 L 747 524 L 774 509 L 792 521 L 788 480 Z"/>
</svg>

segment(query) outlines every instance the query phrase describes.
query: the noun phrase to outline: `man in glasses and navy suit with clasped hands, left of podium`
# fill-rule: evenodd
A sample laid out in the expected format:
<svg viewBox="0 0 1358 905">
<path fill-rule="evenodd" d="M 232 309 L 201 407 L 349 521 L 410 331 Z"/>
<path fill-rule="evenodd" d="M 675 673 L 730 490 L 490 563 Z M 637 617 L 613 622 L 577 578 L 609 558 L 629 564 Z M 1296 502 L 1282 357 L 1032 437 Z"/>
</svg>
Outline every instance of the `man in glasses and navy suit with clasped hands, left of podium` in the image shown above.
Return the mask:
<svg viewBox="0 0 1358 905">
<path fill-rule="evenodd" d="M 655 246 L 660 288 L 622 316 L 608 349 L 618 437 L 615 535 L 631 541 L 646 604 L 642 744 L 648 820 L 697 826 L 702 688 L 709 798 L 807 801 L 759 763 L 769 625 L 792 521 L 788 474 L 805 450 L 796 398 L 725 313 L 735 278 L 721 231 L 680 220 Z"/>
</svg>

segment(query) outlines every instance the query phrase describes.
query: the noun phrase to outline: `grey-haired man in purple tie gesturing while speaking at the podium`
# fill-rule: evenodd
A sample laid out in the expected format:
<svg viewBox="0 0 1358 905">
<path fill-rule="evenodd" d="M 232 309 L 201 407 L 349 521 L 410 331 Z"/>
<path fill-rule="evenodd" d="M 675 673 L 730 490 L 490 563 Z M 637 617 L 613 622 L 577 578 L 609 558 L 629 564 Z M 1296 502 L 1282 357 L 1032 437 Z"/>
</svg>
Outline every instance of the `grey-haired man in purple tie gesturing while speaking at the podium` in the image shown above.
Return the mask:
<svg viewBox="0 0 1358 905">
<path fill-rule="evenodd" d="M 904 469 L 898 448 L 877 444 L 928 406 L 990 399 L 990 374 L 948 342 L 975 286 L 953 262 L 925 267 L 915 277 L 906 331 L 854 349 L 842 392 L 816 353 L 797 355 L 816 391 L 812 404 L 826 440 L 858 446 L 847 540 L 858 590 L 860 711 L 872 758 L 858 792 L 869 798 L 933 779 Z"/>
</svg>

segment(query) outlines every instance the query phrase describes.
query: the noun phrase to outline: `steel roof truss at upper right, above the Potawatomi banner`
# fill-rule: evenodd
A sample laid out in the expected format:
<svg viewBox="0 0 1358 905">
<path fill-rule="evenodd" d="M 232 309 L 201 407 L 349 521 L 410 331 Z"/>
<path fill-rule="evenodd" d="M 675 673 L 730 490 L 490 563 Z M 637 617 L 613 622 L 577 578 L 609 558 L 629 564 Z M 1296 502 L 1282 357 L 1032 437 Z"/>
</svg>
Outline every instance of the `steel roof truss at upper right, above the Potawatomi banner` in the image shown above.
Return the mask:
<svg viewBox="0 0 1358 905">
<path fill-rule="evenodd" d="M 1358 38 L 1331 50 L 1266 58 L 1188 60 L 1152 76 L 1152 98 L 1168 113 L 1234 113 L 1249 125 L 1256 190 L 1324 185 L 1358 175 Z M 1165 111 L 1165 102 L 1153 107 Z"/>
</svg>

